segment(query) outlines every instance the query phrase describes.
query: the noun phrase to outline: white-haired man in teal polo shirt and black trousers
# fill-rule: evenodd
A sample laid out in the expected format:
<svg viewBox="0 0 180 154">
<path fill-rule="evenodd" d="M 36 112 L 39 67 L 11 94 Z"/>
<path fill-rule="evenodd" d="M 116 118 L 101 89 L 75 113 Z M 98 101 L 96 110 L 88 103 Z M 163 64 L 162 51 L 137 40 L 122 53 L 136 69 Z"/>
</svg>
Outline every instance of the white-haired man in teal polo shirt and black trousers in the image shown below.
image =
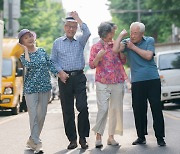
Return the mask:
<svg viewBox="0 0 180 154">
<path fill-rule="evenodd" d="M 137 140 L 132 144 L 146 144 L 147 135 L 147 100 L 150 103 L 153 128 L 159 146 L 165 146 L 164 118 L 161 107 L 161 83 L 153 56 L 154 38 L 144 36 L 145 25 L 133 22 L 130 26 L 130 38 L 121 42 L 117 38 L 113 51 L 127 52 L 131 68 L 132 106 L 137 131 Z"/>
</svg>

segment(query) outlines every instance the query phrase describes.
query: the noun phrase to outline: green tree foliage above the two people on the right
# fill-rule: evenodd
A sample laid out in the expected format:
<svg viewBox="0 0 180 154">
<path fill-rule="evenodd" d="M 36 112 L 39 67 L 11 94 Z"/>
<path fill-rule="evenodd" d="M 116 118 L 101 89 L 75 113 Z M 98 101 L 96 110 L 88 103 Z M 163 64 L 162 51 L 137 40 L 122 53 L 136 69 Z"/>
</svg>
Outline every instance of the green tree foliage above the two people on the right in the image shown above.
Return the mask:
<svg viewBox="0 0 180 154">
<path fill-rule="evenodd" d="M 180 26 L 178 17 L 180 16 L 179 0 L 139 0 L 141 22 L 146 25 L 146 35 L 153 36 L 156 42 L 168 42 L 171 37 L 171 26 Z M 126 13 L 113 13 L 113 21 L 120 29 L 128 27 L 137 21 L 137 0 L 109 0 L 110 10 L 130 10 Z M 120 25 L 119 25 L 120 24 Z"/>
</svg>

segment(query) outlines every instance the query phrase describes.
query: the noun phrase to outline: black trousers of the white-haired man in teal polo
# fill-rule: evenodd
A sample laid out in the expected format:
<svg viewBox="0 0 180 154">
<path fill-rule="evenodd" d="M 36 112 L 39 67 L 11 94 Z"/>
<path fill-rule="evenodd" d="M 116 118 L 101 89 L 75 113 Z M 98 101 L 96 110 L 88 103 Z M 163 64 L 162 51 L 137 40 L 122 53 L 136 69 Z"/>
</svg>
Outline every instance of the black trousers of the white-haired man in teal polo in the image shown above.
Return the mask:
<svg viewBox="0 0 180 154">
<path fill-rule="evenodd" d="M 164 137 L 164 118 L 161 106 L 161 83 L 159 79 L 132 83 L 132 107 L 134 112 L 137 136 L 147 135 L 147 102 L 149 101 L 153 128 L 156 138 Z"/>
</svg>

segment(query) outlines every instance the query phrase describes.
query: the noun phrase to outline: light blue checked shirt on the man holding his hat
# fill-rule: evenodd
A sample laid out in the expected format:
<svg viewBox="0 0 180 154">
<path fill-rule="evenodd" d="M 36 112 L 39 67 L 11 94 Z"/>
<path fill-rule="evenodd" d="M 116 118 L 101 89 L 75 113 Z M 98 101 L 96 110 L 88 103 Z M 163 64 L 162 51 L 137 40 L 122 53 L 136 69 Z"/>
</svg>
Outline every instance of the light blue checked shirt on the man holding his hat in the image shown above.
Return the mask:
<svg viewBox="0 0 180 154">
<path fill-rule="evenodd" d="M 53 43 L 51 60 L 58 72 L 61 70 L 83 70 L 85 66 L 84 47 L 91 33 L 85 23 L 80 27 L 83 34 L 69 40 L 66 36 L 57 38 Z"/>
</svg>

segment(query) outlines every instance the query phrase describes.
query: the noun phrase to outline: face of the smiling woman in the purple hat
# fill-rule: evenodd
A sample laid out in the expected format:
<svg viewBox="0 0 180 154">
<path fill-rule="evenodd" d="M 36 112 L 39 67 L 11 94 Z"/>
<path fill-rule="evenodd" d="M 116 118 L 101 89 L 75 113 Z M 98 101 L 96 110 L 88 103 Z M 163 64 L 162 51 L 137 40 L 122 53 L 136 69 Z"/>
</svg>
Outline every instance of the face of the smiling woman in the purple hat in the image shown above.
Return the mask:
<svg viewBox="0 0 180 154">
<path fill-rule="evenodd" d="M 21 37 L 21 44 L 25 46 L 32 46 L 35 44 L 35 38 L 32 33 L 26 33 Z"/>
</svg>

